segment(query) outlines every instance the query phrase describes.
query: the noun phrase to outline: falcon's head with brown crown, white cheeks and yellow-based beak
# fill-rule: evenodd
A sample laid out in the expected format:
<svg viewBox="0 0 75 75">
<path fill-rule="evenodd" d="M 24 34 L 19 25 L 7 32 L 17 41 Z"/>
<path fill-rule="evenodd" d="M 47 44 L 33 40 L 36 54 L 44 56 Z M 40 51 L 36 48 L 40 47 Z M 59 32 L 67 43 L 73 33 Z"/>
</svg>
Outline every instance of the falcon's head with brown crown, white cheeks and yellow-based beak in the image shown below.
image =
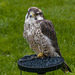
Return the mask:
<svg viewBox="0 0 75 75">
<path fill-rule="evenodd" d="M 44 19 L 44 15 L 42 13 L 42 11 L 40 9 L 38 9 L 37 7 L 30 7 L 28 9 L 28 12 L 26 14 L 26 20 L 43 20 Z"/>
</svg>

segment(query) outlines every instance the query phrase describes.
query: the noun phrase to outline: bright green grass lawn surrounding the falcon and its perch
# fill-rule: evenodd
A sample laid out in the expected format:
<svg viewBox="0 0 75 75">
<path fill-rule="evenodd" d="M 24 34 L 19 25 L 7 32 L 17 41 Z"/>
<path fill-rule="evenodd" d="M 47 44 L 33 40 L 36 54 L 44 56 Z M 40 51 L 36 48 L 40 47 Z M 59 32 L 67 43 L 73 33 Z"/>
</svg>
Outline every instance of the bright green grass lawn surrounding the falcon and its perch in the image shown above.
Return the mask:
<svg viewBox="0 0 75 75">
<path fill-rule="evenodd" d="M 23 38 L 25 15 L 32 6 L 53 22 L 62 56 L 73 72 L 66 75 L 75 75 L 75 0 L 0 0 L 0 75 L 20 75 L 18 59 L 34 54 Z M 47 75 L 64 73 L 56 70 Z"/>
</svg>

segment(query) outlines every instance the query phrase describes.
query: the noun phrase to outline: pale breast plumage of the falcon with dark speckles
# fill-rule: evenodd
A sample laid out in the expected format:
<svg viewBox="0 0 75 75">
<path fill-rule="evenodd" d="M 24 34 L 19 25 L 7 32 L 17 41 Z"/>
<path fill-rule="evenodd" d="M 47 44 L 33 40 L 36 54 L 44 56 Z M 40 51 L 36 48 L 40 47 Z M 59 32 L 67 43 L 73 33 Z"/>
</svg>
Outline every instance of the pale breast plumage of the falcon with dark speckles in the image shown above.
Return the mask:
<svg viewBox="0 0 75 75">
<path fill-rule="evenodd" d="M 47 39 L 42 34 L 39 23 L 25 23 L 23 35 L 36 54 L 43 51 L 47 52 Z"/>
</svg>

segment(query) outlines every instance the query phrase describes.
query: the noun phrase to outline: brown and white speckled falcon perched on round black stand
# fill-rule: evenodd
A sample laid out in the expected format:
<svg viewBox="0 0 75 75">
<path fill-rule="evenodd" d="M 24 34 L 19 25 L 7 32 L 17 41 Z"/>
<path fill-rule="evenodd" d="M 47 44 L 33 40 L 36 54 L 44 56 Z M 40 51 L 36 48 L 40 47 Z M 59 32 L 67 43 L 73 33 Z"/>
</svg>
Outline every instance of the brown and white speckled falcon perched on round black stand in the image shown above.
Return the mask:
<svg viewBox="0 0 75 75">
<path fill-rule="evenodd" d="M 44 18 L 39 8 L 30 7 L 28 9 L 23 36 L 38 57 L 61 57 L 54 26 L 51 21 Z M 62 71 L 71 72 L 65 62 Z"/>
</svg>

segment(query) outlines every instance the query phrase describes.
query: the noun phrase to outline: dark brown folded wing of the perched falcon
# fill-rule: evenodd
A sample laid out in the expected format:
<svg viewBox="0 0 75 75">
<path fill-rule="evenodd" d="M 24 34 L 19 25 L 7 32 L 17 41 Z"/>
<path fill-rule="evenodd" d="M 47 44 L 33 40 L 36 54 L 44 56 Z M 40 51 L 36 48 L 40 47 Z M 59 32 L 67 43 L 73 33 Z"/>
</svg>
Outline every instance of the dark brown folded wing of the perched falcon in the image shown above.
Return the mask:
<svg viewBox="0 0 75 75">
<path fill-rule="evenodd" d="M 55 51 L 61 56 L 60 49 L 57 42 L 56 32 L 52 22 L 48 20 L 42 20 L 40 25 L 41 25 L 42 33 L 45 36 L 47 36 L 49 39 L 51 39 L 51 42 L 53 47 L 55 48 Z"/>
</svg>

